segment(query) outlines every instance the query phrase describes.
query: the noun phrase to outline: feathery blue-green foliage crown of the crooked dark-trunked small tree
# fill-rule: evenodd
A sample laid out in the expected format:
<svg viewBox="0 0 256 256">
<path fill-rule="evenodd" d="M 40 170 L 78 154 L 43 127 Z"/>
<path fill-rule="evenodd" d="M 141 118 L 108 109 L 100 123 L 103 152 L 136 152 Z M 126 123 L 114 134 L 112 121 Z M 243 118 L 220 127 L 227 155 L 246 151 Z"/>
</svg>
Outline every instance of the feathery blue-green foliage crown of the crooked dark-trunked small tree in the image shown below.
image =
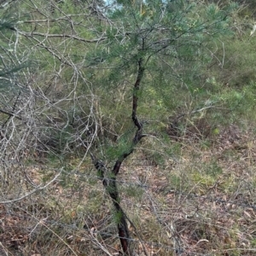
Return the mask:
<svg viewBox="0 0 256 256">
<path fill-rule="evenodd" d="M 98 45 L 93 57 L 100 55 L 103 60 L 98 64 L 104 69 L 97 84 L 108 81 L 102 86 L 108 97 L 111 97 L 109 92 L 119 96 L 119 87 L 127 84 L 123 102 L 128 103 L 125 101 L 137 77 L 137 62 L 142 60 L 146 72 L 141 89 L 136 92 L 141 117 L 166 122 L 175 109 L 183 107 L 183 102 L 200 104 L 209 95 L 200 84 L 202 67 L 212 61 L 207 47 L 210 40 L 232 34 L 229 25 L 234 9 L 235 4 L 221 9 L 214 4 L 184 1 L 119 2 L 108 12 L 114 26 L 107 28 L 107 42 Z M 104 103 L 103 114 L 108 113 L 105 106 Z M 121 107 L 115 110 L 114 116 L 127 113 L 125 104 Z M 118 148 L 117 154 L 123 149 Z"/>
</svg>

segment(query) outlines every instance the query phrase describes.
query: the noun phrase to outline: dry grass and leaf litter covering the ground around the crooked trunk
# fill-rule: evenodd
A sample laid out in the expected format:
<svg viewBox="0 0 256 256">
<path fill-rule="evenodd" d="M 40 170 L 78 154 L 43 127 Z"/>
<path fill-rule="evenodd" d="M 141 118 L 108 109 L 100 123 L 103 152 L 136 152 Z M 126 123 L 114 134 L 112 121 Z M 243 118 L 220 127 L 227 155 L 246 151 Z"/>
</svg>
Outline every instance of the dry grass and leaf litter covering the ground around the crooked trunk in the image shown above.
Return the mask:
<svg viewBox="0 0 256 256">
<path fill-rule="evenodd" d="M 233 125 L 207 141 L 184 141 L 161 165 L 143 153 L 126 161 L 119 191 L 135 255 L 255 255 L 255 140 Z M 76 160 L 69 164 L 73 170 Z M 34 183 L 53 177 L 43 167 L 26 167 Z M 28 189 L 10 185 L 13 195 Z M 111 202 L 88 163 L 0 205 L 0 220 L 0 255 L 119 255 Z"/>
</svg>

